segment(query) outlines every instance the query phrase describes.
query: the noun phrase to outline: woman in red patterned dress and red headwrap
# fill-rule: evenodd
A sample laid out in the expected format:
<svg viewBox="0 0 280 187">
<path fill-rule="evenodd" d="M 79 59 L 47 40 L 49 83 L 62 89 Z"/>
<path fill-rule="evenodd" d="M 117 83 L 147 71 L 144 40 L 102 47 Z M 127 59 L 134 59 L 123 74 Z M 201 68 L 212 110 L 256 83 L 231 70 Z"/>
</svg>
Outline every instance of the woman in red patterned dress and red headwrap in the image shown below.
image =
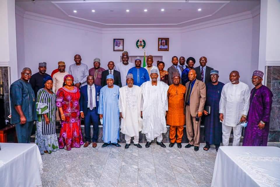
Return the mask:
<svg viewBox="0 0 280 187">
<path fill-rule="evenodd" d="M 63 87 L 58 89 L 56 95 L 56 106 L 61 119 L 61 130 L 58 140 L 59 148 L 71 150 L 72 147 L 79 148 L 83 145 L 80 121 L 80 91 L 73 84 L 74 77 L 65 75 Z"/>
</svg>

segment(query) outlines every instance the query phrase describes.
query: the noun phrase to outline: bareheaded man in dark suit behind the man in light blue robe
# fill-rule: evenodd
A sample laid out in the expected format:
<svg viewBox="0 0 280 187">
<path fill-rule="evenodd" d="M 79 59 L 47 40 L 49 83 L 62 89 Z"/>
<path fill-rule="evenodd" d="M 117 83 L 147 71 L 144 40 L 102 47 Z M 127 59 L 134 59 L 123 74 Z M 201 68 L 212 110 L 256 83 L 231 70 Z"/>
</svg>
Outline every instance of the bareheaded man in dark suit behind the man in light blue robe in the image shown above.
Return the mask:
<svg viewBox="0 0 280 187">
<path fill-rule="evenodd" d="M 102 87 L 107 85 L 106 77 L 109 74 L 113 74 L 114 84 L 119 86 L 120 88 L 122 87 L 122 83 L 120 81 L 120 72 L 117 71 L 117 70 L 114 70 L 114 67 L 115 67 L 115 63 L 113 61 L 109 61 L 108 62 L 108 68 L 109 69 L 102 72 L 102 78 L 101 78 L 101 86 Z"/>
</svg>

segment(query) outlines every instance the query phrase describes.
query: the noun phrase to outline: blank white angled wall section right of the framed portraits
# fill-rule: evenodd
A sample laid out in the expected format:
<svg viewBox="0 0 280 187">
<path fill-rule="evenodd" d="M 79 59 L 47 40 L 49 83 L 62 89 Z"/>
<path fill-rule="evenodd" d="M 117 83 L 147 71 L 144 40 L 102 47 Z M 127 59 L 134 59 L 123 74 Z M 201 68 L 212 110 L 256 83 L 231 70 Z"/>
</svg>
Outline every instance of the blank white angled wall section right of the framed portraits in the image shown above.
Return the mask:
<svg viewBox="0 0 280 187">
<path fill-rule="evenodd" d="M 206 56 L 207 66 L 219 70 L 219 81 L 229 82 L 230 72 L 237 70 L 240 81 L 251 86 L 252 19 L 185 32 L 182 41 L 182 53 L 195 58 L 195 67 Z"/>
</svg>

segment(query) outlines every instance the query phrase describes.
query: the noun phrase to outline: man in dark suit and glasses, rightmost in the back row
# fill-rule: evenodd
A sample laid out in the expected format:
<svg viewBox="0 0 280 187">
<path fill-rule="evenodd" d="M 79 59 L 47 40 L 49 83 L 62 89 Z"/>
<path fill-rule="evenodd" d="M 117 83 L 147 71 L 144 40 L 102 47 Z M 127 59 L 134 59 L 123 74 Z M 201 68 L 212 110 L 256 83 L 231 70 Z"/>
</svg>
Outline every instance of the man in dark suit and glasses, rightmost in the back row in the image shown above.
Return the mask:
<svg viewBox="0 0 280 187">
<path fill-rule="evenodd" d="M 205 84 L 210 82 L 210 71 L 213 70 L 212 67 L 206 66 L 207 58 L 202 56 L 199 58 L 200 66 L 195 67 L 196 78 Z"/>
</svg>

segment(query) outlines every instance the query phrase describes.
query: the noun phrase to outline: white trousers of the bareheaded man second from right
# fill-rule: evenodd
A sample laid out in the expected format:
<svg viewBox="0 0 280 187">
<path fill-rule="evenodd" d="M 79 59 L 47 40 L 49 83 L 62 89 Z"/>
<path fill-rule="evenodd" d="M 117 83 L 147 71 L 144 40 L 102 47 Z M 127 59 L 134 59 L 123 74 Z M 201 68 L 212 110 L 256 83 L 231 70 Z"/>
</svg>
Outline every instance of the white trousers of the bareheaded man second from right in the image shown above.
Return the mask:
<svg viewBox="0 0 280 187">
<path fill-rule="evenodd" d="M 242 133 L 242 127 L 240 125 L 237 125 L 236 127 L 231 127 L 222 124 L 222 132 L 223 132 L 223 146 L 228 146 L 229 140 L 230 140 L 230 132 L 231 129 L 233 129 L 233 142 L 232 146 L 239 146 L 241 133 Z"/>
</svg>

